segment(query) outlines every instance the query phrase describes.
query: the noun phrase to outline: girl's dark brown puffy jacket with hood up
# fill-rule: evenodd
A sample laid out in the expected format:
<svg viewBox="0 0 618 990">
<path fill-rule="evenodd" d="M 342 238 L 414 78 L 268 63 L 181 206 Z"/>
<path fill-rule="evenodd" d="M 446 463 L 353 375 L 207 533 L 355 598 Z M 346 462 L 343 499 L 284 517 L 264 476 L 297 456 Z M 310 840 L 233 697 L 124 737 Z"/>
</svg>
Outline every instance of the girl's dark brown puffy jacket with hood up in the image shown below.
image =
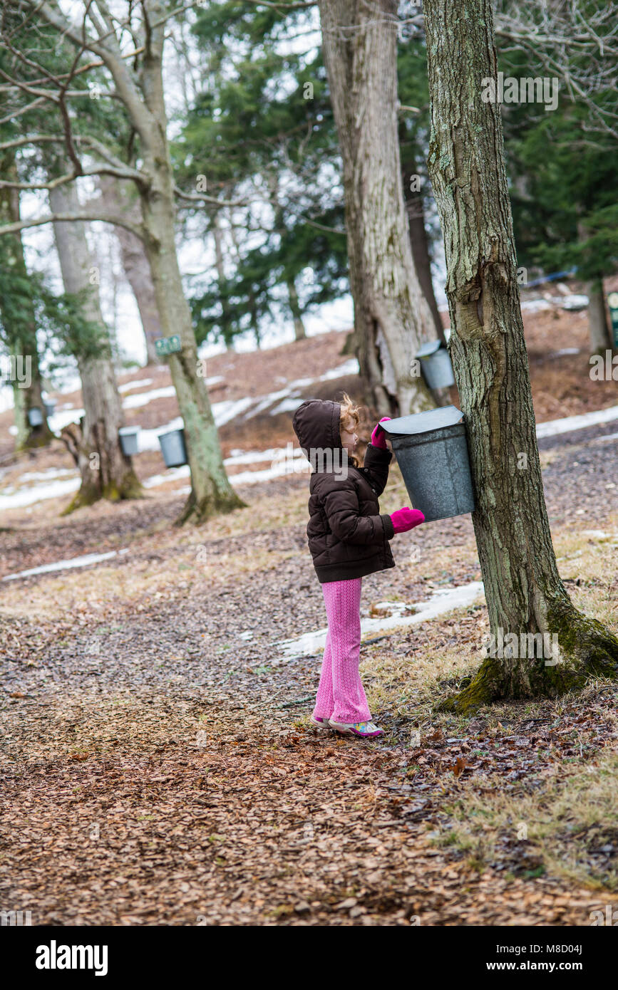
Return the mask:
<svg viewBox="0 0 618 990">
<path fill-rule="evenodd" d="M 388 541 L 390 516 L 379 514 L 378 495 L 392 454 L 367 446 L 364 466 L 347 460 L 339 433 L 338 402 L 309 399 L 294 414 L 294 433 L 313 472 L 307 536 L 319 581 L 346 581 L 394 567 Z"/>
</svg>

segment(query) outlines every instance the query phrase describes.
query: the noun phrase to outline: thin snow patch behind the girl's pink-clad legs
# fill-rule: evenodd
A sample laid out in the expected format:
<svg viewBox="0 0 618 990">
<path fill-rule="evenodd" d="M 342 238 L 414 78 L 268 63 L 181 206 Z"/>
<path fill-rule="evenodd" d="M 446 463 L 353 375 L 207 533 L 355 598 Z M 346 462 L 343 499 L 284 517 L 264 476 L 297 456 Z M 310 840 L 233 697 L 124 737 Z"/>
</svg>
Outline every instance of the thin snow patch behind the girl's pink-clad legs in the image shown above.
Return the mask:
<svg viewBox="0 0 618 990">
<path fill-rule="evenodd" d="M 426 602 L 407 605 L 404 602 L 381 602 L 381 606 L 395 611 L 395 615 L 384 618 L 361 619 L 361 635 L 365 633 L 379 633 L 383 630 L 399 629 L 405 626 L 417 626 L 428 619 L 436 619 L 445 612 L 452 609 L 466 608 L 472 605 L 481 595 L 484 595 L 482 581 L 471 581 L 469 584 L 461 584 L 457 588 L 441 588 L 436 591 Z M 408 608 L 416 609 L 410 615 L 404 615 L 404 610 Z M 324 649 L 326 643 L 327 629 L 319 629 L 313 633 L 305 633 L 297 640 L 283 640 L 277 645 L 283 656 L 287 659 L 293 656 L 313 655 Z M 276 663 L 277 661 L 270 661 Z"/>
</svg>

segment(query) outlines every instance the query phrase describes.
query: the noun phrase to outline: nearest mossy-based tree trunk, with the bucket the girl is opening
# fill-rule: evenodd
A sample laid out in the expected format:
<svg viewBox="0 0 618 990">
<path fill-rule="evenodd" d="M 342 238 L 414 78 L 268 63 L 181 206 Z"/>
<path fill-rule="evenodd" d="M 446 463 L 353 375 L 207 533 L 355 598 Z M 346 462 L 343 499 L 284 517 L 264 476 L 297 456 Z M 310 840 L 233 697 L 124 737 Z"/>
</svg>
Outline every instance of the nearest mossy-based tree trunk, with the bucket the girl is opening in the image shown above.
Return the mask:
<svg viewBox="0 0 618 990">
<path fill-rule="evenodd" d="M 553 659 L 487 656 L 451 707 L 555 696 L 616 676 L 618 638 L 577 612 L 548 522 L 524 343 L 496 79 L 491 0 L 425 0 L 429 169 L 445 239 L 451 353 L 476 494 L 472 515 L 491 633 L 558 640 Z M 512 642 L 512 641 L 511 641 Z M 528 641 L 530 644 L 530 641 Z M 509 650 L 507 649 L 506 652 Z M 524 652 L 526 650 L 524 649 Z"/>
</svg>

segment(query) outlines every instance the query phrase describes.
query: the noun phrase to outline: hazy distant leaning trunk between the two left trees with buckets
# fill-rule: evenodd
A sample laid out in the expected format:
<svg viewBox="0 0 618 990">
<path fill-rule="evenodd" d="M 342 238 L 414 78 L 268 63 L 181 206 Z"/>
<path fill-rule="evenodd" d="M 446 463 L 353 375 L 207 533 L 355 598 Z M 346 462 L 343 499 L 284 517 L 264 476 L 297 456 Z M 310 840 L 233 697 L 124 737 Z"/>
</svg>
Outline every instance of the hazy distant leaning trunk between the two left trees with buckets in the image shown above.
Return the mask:
<svg viewBox="0 0 618 990">
<path fill-rule="evenodd" d="M 131 196 L 125 183 L 111 175 L 102 175 L 99 180 L 103 202 L 111 214 L 122 215 L 140 224 L 139 201 L 131 203 Z M 123 270 L 140 311 L 140 319 L 146 339 L 146 353 L 149 364 L 159 362 L 154 341 L 161 336 L 160 321 L 154 298 L 153 278 L 144 245 L 126 227 L 116 227 L 115 234 L 120 245 Z"/>
</svg>

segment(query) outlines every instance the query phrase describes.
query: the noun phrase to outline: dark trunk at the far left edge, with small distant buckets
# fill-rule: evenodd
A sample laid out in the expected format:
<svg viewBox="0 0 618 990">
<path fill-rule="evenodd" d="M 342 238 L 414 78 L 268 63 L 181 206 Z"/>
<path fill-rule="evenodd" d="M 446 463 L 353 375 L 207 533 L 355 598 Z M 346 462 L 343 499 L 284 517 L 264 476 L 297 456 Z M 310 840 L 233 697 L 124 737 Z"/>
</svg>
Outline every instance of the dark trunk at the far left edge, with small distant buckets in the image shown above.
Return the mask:
<svg viewBox="0 0 618 990">
<path fill-rule="evenodd" d="M 15 165 L 15 150 L 10 149 L 5 152 L 0 163 L 0 172 L 7 179 L 18 180 L 17 168 Z M 19 190 L 11 189 L 8 186 L 0 189 L 0 221 L 3 224 L 19 223 L 20 221 L 20 201 Z M 22 235 L 19 231 L 14 234 L 7 234 L 3 244 L 7 265 L 11 266 L 14 278 L 19 278 L 24 285 L 29 281 L 28 269 L 24 258 L 24 246 Z M 53 439 L 48 418 L 46 416 L 45 403 L 42 394 L 41 370 L 39 367 L 39 351 L 37 348 L 37 317 L 33 306 L 32 297 L 27 291 L 20 293 L 19 298 L 15 297 L 7 300 L 9 305 L 2 308 L 2 320 L 6 335 L 5 345 L 10 354 L 16 358 L 23 358 L 21 372 L 24 374 L 23 381 L 14 378 L 13 401 L 15 426 L 17 436 L 15 447 L 17 450 L 24 450 L 33 446 L 45 446 Z M 1 298 L 0 293 L 0 298 Z M 28 419 L 28 412 L 31 409 L 40 409 L 43 416 L 43 423 L 39 427 L 32 427 Z"/>
</svg>

